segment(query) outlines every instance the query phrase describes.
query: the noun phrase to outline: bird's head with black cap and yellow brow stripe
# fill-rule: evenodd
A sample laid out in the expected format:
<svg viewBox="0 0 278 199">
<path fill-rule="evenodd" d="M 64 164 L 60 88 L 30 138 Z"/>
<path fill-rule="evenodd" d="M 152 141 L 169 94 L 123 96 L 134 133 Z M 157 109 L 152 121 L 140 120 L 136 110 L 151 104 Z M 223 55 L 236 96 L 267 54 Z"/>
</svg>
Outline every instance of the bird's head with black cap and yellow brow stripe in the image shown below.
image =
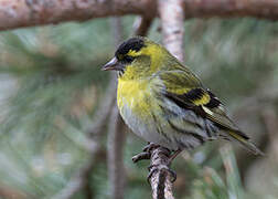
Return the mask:
<svg viewBox="0 0 278 199">
<path fill-rule="evenodd" d="M 161 70 L 163 61 L 170 56 L 160 44 L 136 36 L 122 42 L 103 70 L 118 71 L 122 78 L 145 78 Z"/>
</svg>

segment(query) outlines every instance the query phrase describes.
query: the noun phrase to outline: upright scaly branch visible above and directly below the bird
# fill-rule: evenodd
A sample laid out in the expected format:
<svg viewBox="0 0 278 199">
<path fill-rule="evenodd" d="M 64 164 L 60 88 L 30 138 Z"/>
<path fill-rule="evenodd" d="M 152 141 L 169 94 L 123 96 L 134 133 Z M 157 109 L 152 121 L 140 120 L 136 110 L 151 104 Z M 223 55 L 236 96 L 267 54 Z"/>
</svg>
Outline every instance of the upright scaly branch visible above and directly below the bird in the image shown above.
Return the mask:
<svg viewBox="0 0 278 199">
<path fill-rule="evenodd" d="M 174 54 L 180 61 L 183 61 L 183 9 L 182 0 L 159 0 L 159 13 L 162 23 L 162 36 L 165 48 Z M 169 166 L 171 164 L 171 150 L 164 147 L 149 149 L 132 160 L 136 163 L 140 159 L 151 159 L 149 180 L 152 189 L 153 199 L 174 199 L 173 179 L 175 174 Z M 153 147 L 152 147 L 153 148 Z"/>
</svg>

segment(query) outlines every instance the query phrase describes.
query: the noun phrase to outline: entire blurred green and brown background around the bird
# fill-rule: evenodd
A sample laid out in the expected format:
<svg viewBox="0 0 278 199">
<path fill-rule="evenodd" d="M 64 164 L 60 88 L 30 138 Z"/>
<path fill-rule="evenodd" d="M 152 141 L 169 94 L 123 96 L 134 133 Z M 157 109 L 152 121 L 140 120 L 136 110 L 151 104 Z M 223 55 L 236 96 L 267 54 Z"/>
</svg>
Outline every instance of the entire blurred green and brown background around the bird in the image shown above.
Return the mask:
<svg viewBox="0 0 278 199">
<path fill-rule="evenodd" d="M 0 33 L 0 198 L 111 198 L 109 119 L 94 132 L 116 81 L 100 66 L 132 34 L 133 21 L 118 19 L 120 32 L 107 18 Z M 266 156 L 224 140 L 184 151 L 172 165 L 177 198 L 278 198 L 278 23 L 210 19 L 184 27 L 185 64 Z M 161 43 L 158 20 L 148 38 Z M 131 161 L 146 142 L 126 127 L 119 136 L 121 191 L 150 198 L 149 163 Z"/>
</svg>

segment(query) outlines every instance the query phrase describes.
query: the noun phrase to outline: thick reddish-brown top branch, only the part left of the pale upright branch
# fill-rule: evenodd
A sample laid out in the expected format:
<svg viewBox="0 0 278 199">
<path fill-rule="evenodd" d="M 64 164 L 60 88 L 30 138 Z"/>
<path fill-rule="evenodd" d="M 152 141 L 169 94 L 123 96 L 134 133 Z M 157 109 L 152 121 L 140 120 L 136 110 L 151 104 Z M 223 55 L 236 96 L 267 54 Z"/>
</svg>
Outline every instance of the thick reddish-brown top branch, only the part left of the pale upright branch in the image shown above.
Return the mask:
<svg viewBox="0 0 278 199">
<path fill-rule="evenodd" d="M 0 0 L 0 30 L 85 21 L 93 18 L 143 14 L 148 0 Z"/>
</svg>

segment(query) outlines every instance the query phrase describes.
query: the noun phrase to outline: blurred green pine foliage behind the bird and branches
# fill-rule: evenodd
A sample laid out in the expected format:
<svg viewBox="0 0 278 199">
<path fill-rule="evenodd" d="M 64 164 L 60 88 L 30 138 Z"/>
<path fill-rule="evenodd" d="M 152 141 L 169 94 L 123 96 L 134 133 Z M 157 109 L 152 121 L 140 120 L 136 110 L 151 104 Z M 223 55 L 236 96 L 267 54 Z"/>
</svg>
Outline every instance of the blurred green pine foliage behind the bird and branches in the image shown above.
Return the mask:
<svg viewBox="0 0 278 199">
<path fill-rule="evenodd" d="M 124 34 L 130 35 L 133 18 L 122 20 Z M 156 21 L 150 31 L 156 41 L 161 40 L 158 25 Z M 185 32 L 188 65 L 225 104 L 236 107 L 261 87 L 277 91 L 276 23 L 190 20 Z M 108 20 L 8 31 L 0 34 L 0 84 L 11 82 L 8 90 L 0 86 L 0 186 L 51 198 L 88 158 L 82 143 L 95 109 L 105 101 L 108 80 L 99 69 L 115 50 Z M 143 144 L 132 135 L 127 140 L 126 198 L 150 198 L 148 163 L 130 160 Z M 179 198 L 253 196 L 242 185 L 232 150 L 221 156 L 215 146 L 213 142 L 192 151 L 192 158 L 183 154 L 177 159 Z M 231 169 L 223 169 L 223 163 Z M 92 189 L 99 199 L 109 198 L 106 171 L 101 160 L 92 174 Z M 81 191 L 74 198 L 83 196 Z"/>
</svg>

